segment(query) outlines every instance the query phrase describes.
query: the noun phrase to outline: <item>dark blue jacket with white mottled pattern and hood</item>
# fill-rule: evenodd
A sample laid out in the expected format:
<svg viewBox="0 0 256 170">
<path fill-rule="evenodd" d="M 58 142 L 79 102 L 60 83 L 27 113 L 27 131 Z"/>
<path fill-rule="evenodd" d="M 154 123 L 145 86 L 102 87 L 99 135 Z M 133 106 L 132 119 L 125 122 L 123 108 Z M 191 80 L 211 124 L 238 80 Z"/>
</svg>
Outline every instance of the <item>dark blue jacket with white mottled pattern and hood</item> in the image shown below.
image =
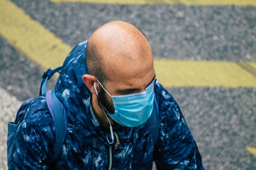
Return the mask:
<svg viewBox="0 0 256 170">
<path fill-rule="evenodd" d="M 45 96 L 26 101 L 25 117 L 17 129 L 9 169 L 107 169 L 109 143 L 90 103 L 83 83 L 87 41 L 78 44 L 63 63 L 56 96 L 67 107 L 67 136 L 58 162 L 52 166 L 55 129 Z M 188 125 L 173 97 L 158 81 L 154 92 L 159 104 L 159 139 L 154 147 L 149 122 L 114 129 L 120 140 L 113 150 L 113 169 L 204 169 Z M 16 120 L 19 122 L 19 118 Z M 115 143 L 113 143 L 115 145 Z"/>
</svg>

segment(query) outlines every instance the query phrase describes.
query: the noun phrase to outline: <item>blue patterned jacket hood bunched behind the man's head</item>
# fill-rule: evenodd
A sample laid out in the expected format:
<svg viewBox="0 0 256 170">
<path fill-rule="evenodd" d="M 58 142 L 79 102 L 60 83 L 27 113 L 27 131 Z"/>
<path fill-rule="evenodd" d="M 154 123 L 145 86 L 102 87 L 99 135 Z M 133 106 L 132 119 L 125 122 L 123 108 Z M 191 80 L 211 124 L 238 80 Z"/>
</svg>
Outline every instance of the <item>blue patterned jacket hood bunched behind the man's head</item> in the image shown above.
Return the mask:
<svg viewBox="0 0 256 170">
<path fill-rule="evenodd" d="M 86 66 L 87 42 L 79 43 L 68 54 L 63 62 L 55 92 L 68 110 L 68 123 L 76 124 L 80 131 L 85 128 L 95 134 L 99 133 L 98 136 L 103 137 L 99 122 L 94 116 L 90 104 L 92 95 L 82 80 L 83 75 L 88 74 Z"/>
</svg>

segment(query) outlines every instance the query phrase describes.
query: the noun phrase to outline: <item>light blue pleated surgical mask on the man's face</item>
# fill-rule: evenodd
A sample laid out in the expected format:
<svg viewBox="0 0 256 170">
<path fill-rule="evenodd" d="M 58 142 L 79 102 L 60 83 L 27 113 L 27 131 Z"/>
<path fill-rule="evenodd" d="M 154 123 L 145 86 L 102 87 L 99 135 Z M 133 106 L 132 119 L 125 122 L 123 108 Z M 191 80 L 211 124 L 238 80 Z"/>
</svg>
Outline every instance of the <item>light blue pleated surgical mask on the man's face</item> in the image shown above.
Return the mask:
<svg viewBox="0 0 256 170">
<path fill-rule="evenodd" d="M 100 82 L 99 84 L 102 89 L 104 89 Z M 111 96 L 106 89 L 104 90 L 109 96 Z M 95 91 L 97 92 L 96 88 Z M 109 117 L 120 125 L 136 127 L 147 122 L 153 111 L 154 81 L 148 85 L 144 92 L 111 97 L 114 104 L 115 113 L 107 113 Z M 104 108 L 102 109 L 104 110 Z"/>
</svg>

